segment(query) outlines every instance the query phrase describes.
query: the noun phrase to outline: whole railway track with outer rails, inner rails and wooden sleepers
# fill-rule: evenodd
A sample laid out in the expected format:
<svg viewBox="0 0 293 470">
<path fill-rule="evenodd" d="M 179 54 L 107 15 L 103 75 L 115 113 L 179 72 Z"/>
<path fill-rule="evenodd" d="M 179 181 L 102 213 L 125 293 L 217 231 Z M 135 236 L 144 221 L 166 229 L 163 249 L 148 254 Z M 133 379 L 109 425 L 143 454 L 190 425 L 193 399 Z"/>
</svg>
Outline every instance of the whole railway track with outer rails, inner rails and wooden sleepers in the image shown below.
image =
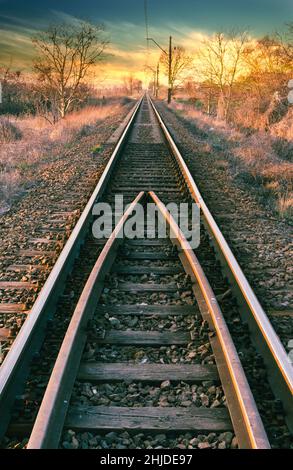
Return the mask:
<svg viewBox="0 0 293 470">
<path fill-rule="evenodd" d="M 199 248 L 178 230 L 149 239 L 147 227 L 135 240 L 117 230 L 108 241 L 94 239 L 94 203 L 114 208 L 117 194 L 131 204 L 119 229 L 138 202 L 152 201 L 174 233 L 165 205 L 196 201 Z M 256 351 L 249 381 L 238 355 L 247 342 Z M 234 434 L 245 448 L 290 440 L 291 365 L 148 97 L 7 355 L 0 384 L 8 446 L 9 436 L 25 436 L 28 448 L 127 448 L 158 433 L 159 447 L 233 447 Z"/>
</svg>

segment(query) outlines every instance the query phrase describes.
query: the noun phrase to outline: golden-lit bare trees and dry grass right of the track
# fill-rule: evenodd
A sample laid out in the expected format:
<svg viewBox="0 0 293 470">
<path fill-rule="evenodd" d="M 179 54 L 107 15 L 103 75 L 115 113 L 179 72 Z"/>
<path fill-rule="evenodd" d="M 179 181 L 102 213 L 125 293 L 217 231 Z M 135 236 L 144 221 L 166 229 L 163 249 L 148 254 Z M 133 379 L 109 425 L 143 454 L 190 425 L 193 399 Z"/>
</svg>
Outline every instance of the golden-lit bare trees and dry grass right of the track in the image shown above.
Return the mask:
<svg viewBox="0 0 293 470">
<path fill-rule="evenodd" d="M 216 33 L 202 42 L 195 61 L 173 109 L 224 149 L 234 175 L 291 217 L 293 23 L 258 40 L 245 32 Z"/>
</svg>

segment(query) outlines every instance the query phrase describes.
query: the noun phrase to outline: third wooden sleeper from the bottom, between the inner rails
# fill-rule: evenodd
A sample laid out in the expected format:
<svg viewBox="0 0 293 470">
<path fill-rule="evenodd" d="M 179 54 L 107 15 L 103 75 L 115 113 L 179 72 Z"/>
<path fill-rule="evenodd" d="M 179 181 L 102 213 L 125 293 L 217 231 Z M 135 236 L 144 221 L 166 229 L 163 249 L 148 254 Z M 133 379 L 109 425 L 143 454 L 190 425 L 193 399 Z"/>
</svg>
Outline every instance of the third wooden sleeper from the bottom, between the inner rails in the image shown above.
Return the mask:
<svg viewBox="0 0 293 470">
<path fill-rule="evenodd" d="M 107 331 L 105 336 L 97 338 L 101 344 L 120 344 L 128 346 L 132 344 L 143 346 L 161 346 L 164 344 L 187 344 L 191 341 L 190 333 L 183 331 Z"/>
</svg>

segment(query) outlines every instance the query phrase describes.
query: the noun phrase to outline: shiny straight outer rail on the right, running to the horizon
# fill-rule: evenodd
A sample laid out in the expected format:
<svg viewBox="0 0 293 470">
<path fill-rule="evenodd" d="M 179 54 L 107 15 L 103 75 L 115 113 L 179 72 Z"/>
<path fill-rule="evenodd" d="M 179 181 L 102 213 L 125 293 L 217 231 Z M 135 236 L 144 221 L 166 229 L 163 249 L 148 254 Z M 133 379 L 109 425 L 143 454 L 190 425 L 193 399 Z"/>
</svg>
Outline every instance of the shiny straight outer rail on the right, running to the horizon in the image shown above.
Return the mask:
<svg viewBox="0 0 293 470">
<path fill-rule="evenodd" d="M 235 290 L 236 287 L 237 299 L 239 300 L 241 307 L 240 312 L 243 315 L 244 321 L 249 325 L 252 338 L 258 346 L 267 367 L 268 379 L 272 390 L 275 396 L 282 401 L 288 427 L 291 432 L 293 432 L 293 367 L 289 357 L 287 356 L 280 339 L 260 305 L 215 219 L 208 209 L 179 149 L 177 148 L 177 145 L 163 122 L 162 117 L 151 98 L 148 97 L 148 99 L 150 100 L 155 115 L 157 116 L 169 147 L 176 158 L 179 169 L 186 181 L 190 193 L 194 201 L 199 204 L 201 208 L 205 227 L 211 235 L 211 241 L 216 247 L 216 253 L 219 255 L 222 266 L 224 267 L 224 270 L 232 284 L 232 288 Z"/>
</svg>

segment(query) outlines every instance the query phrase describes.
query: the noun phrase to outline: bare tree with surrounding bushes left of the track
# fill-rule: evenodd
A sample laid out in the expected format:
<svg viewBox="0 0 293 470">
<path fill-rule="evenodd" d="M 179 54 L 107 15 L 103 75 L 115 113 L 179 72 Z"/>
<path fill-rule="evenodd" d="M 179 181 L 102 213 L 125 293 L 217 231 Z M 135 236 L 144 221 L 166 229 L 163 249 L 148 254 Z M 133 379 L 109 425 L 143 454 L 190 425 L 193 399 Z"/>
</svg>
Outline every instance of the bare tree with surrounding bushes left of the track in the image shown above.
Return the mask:
<svg viewBox="0 0 293 470">
<path fill-rule="evenodd" d="M 36 57 L 33 77 L 0 67 L 2 113 L 34 112 L 51 123 L 87 102 L 93 66 L 106 56 L 109 44 L 104 26 L 85 21 L 57 24 L 32 38 Z"/>
</svg>

